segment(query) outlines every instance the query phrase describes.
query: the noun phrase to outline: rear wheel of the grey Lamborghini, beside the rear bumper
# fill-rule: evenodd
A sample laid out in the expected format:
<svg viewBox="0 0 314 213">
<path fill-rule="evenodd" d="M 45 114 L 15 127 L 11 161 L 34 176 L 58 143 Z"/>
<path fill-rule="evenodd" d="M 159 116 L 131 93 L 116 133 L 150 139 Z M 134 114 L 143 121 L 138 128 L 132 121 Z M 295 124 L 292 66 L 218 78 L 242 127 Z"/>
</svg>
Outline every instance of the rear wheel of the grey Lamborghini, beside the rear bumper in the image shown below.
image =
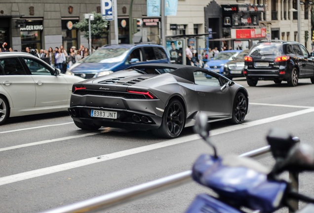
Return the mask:
<svg viewBox="0 0 314 213">
<path fill-rule="evenodd" d="M 177 138 L 185 125 L 185 112 L 181 102 L 172 99 L 166 106 L 162 115 L 161 126 L 152 133 L 157 137 Z"/>
</svg>

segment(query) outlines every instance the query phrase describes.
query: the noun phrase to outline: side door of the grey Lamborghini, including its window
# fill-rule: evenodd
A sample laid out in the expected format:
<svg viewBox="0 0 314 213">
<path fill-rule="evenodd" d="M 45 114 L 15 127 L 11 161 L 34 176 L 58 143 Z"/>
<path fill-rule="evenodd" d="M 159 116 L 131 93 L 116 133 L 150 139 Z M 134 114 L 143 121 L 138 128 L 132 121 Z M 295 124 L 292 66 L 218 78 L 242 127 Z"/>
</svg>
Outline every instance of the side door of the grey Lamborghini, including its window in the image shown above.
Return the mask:
<svg viewBox="0 0 314 213">
<path fill-rule="evenodd" d="M 195 88 L 200 111 L 208 117 L 228 117 L 231 115 L 232 98 L 229 88 L 221 90 L 222 83 L 217 76 L 195 72 Z"/>
</svg>

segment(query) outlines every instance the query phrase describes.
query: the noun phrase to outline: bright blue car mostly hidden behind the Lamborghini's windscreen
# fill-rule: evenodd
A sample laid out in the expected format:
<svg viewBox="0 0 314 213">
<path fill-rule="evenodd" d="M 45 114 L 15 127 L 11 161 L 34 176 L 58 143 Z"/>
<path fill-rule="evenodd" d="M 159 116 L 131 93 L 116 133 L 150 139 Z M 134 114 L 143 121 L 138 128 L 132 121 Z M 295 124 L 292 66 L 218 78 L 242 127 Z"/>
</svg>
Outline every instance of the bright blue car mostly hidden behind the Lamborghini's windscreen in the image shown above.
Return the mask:
<svg viewBox="0 0 314 213">
<path fill-rule="evenodd" d="M 220 74 L 223 74 L 224 72 L 224 65 L 236 58 L 236 56 L 241 52 L 242 50 L 225 50 L 219 52 L 214 58 L 212 58 L 210 61 L 208 61 L 204 68 L 207 70 L 215 71 Z"/>
</svg>

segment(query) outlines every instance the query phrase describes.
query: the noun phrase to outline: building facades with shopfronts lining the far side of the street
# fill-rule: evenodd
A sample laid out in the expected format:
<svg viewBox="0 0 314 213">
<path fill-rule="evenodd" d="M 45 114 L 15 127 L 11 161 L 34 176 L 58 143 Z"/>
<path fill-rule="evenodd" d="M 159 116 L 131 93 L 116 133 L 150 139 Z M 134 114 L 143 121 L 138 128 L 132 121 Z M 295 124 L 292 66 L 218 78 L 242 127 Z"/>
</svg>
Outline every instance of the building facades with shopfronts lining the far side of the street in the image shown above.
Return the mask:
<svg viewBox="0 0 314 213">
<path fill-rule="evenodd" d="M 297 0 L 178 0 L 176 16 L 147 16 L 147 0 L 118 0 L 118 42 L 154 42 L 175 40 L 184 48 L 251 47 L 262 38 L 298 40 L 300 36 L 312 49 L 311 1 L 300 1 L 301 32 L 298 35 Z M 73 24 L 93 11 L 101 13 L 100 0 L 0 0 L 0 41 L 15 50 L 26 46 L 48 49 L 63 45 L 65 49 L 80 44 L 88 46 L 82 32 Z M 132 19 L 130 18 L 132 8 Z M 133 29 L 133 19 L 141 26 Z M 110 21 L 110 34 L 94 40 L 94 46 L 109 44 L 115 38 L 115 22 Z M 135 34 L 130 36 L 130 27 Z M 131 39 L 131 41 L 130 41 Z"/>
</svg>

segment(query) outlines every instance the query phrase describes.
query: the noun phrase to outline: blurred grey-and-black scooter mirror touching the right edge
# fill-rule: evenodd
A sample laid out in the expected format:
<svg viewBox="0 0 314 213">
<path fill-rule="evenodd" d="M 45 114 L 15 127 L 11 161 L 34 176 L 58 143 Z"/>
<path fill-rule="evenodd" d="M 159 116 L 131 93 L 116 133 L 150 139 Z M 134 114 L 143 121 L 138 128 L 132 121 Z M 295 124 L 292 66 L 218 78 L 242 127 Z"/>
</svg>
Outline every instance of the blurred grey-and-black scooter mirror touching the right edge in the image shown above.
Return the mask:
<svg viewBox="0 0 314 213">
<path fill-rule="evenodd" d="M 287 158 L 278 167 L 278 172 L 283 171 L 314 171 L 314 148 L 308 144 L 295 144 Z"/>
</svg>

